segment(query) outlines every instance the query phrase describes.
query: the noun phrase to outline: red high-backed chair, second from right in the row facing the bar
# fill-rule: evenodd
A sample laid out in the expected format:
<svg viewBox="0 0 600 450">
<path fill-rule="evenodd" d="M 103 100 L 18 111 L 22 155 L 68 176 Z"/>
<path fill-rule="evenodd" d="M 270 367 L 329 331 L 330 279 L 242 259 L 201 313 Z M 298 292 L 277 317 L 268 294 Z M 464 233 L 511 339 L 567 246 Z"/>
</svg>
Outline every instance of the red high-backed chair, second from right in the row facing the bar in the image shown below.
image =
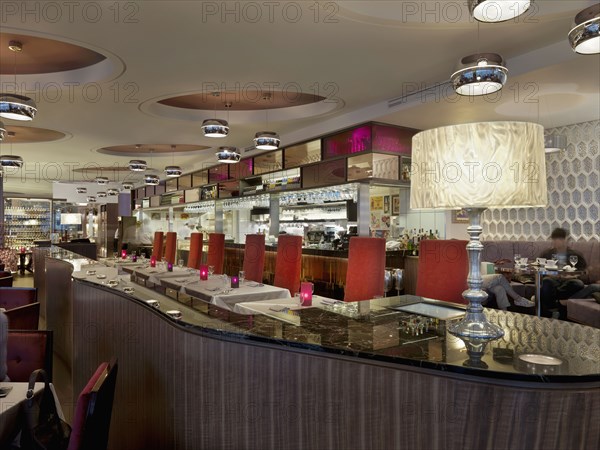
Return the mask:
<svg viewBox="0 0 600 450">
<path fill-rule="evenodd" d="M 385 239 L 351 237 L 344 301 L 371 300 L 384 294 Z"/>
</svg>

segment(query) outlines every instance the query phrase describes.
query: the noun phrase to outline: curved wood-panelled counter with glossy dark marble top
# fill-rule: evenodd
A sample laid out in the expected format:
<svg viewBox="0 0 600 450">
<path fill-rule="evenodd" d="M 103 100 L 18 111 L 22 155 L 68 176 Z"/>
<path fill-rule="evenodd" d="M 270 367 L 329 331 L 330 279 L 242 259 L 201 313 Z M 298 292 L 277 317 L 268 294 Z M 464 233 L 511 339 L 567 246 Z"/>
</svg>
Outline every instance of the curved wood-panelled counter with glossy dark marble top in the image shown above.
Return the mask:
<svg viewBox="0 0 600 450">
<path fill-rule="evenodd" d="M 36 251 L 73 277 L 90 263 Z M 465 365 L 446 321 L 419 329 L 423 319 L 395 309 L 422 304 L 412 296 L 242 315 L 77 278 L 64 308 L 54 277 L 39 282 L 46 308 L 72 314 L 74 392 L 119 357 L 110 448 L 583 449 L 600 439 L 600 330 L 590 327 L 487 310 L 505 336 L 482 369 Z M 561 364 L 521 361 L 531 354 Z"/>
</svg>

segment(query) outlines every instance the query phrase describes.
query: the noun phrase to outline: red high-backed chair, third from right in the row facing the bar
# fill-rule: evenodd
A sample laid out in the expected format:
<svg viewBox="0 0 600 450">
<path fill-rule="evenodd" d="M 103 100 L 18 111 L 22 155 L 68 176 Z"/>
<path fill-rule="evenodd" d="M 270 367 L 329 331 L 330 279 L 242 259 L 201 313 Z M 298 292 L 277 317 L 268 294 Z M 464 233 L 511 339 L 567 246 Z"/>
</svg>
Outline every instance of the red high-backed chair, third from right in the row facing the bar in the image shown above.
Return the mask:
<svg viewBox="0 0 600 450">
<path fill-rule="evenodd" d="M 275 281 L 277 287 L 288 289 L 292 295 L 300 291 L 302 269 L 302 237 L 287 234 L 277 239 Z"/>
</svg>

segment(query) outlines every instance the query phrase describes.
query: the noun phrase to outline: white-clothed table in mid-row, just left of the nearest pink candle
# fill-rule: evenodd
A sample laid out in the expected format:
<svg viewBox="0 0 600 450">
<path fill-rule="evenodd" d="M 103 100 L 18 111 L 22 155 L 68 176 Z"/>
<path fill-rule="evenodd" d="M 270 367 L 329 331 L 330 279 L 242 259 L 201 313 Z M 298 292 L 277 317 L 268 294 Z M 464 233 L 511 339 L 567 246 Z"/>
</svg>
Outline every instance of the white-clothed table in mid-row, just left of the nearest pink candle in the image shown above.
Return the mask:
<svg viewBox="0 0 600 450">
<path fill-rule="evenodd" d="M 223 275 L 200 280 L 199 275 L 189 274 L 162 278 L 160 284 L 228 310 L 233 310 L 235 304 L 240 302 L 291 298 L 288 289 L 250 280 L 244 280 L 239 287 L 233 288 L 230 279 Z"/>
</svg>

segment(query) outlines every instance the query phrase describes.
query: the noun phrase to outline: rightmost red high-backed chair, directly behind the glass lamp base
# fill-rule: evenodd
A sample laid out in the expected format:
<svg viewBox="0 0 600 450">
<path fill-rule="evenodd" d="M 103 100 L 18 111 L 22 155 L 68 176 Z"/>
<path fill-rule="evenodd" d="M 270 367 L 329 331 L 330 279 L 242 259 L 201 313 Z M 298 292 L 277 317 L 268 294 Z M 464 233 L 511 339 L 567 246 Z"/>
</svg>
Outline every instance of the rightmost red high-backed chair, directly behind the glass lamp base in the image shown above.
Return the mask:
<svg viewBox="0 0 600 450">
<path fill-rule="evenodd" d="M 417 269 L 416 294 L 447 302 L 467 303 L 462 293 L 467 289 L 469 259 L 467 241 L 421 241 Z"/>
</svg>

